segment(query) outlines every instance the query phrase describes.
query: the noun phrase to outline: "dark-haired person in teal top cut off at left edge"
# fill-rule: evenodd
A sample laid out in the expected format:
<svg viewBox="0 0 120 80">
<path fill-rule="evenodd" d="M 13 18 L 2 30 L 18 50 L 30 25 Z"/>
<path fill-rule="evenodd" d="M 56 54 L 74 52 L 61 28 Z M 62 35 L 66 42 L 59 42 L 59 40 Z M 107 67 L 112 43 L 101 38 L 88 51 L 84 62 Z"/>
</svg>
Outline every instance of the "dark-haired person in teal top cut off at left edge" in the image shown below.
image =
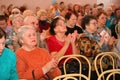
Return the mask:
<svg viewBox="0 0 120 80">
<path fill-rule="evenodd" d="M 18 80 L 16 70 L 16 55 L 13 51 L 5 48 L 6 33 L 0 28 L 0 79 Z"/>
</svg>

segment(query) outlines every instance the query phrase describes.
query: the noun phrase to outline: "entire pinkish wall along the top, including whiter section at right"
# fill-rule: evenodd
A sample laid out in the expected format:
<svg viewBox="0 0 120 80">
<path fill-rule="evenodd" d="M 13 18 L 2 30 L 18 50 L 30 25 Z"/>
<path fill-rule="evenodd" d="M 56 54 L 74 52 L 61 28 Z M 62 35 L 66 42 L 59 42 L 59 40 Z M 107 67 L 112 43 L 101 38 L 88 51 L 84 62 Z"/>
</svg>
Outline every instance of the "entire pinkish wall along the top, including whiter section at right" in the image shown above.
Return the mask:
<svg viewBox="0 0 120 80">
<path fill-rule="evenodd" d="M 18 7 L 22 5 L 26 5 L 30 9 L 34 9 L 36 6 L 39 6 L 40 8 L 46 9 L 52 4 L 52 1 L 53 0 L 0 0 L 0 5 L 5 4 L 6 6 L 8 6 L 9 4 L 14 4 L 15 6 Z M 105 7 L 107 7 L 111 3 L 120 4 L 120 0 L 56 0 L 56 1 L 58 3 L 60 1 L 64 1 L 66 5 L 69 3 L 73 3 L 73 4 L 78 3 L 81 5 L 89 3 L 93 5 L 94 3 L 102 2 L 105 4 Z"/>
</svg>

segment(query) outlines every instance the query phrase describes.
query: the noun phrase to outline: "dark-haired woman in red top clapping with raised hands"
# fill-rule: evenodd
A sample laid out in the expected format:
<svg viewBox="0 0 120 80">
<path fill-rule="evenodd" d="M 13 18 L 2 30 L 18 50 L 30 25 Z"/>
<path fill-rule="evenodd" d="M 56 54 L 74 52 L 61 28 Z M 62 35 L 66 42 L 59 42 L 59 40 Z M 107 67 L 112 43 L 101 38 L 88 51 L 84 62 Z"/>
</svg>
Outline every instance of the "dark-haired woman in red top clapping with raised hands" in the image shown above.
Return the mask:
<svg viewBox="0 0 120 80">
<path fill-rule="evenodd" d="M 51 56 L 55 56 L 58 59 L 64 55 L 73 55 L 76 54 L 75 39 L 77 32 L 73 34 L 65 35 L 66 23 L 64 18 L 56 17 L 53 19 L 50 26 L 51 37 L 47 38 L 47 46 Z M 62 63 L 59 64 L 59 67 L 62 70 Z M 69 72 L 68 72 L 69 73 Z"/>
</svg>

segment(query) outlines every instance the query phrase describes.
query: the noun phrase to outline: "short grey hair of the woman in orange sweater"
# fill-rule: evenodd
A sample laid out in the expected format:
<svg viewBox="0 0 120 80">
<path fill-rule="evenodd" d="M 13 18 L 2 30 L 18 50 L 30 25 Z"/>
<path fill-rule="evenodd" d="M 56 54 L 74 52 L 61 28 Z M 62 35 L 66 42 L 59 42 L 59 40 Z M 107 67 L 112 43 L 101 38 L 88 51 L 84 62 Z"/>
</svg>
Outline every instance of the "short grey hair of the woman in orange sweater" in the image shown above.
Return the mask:
<svg viewBox="0 0 120 80">
<path fill-rule="evenodd" d="M 17 33 L 18 39 L 23 38 L 25 32 L 27 32 L 27 31 L 30 30 L 30 29 L 35 30 L 32 26 L 29 26 L 29 25 L 21 26 L 21 27 L 18 29 L 18 33 Z"/>
</svg>

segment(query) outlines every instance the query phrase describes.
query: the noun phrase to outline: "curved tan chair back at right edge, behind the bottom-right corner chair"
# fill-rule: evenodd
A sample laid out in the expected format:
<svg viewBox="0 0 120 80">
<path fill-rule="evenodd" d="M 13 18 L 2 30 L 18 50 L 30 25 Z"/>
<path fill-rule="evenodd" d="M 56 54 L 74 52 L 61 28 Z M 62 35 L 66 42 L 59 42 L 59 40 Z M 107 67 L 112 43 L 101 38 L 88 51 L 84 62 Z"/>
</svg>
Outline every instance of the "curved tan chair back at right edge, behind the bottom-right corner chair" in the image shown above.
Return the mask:
<svg viewBox="0 0 120 80">
<path fill-rule="evenodd" d="M 112 68 L 116 69 L 117 60 L 120 60 L 120 56 L 116 52 L 99 53 L 94 60 L 94 67 L 95 67 L 97 76 L 99 76 L 102 72 L 104 72 L 103 66 L 106 65 L 106 64 L 103 64 L 104 59 L 109 59 L 110 60 L 109 62 L 111 63 Z M 103 76 L 103 79 L 104 79 L 104 76 Z"/>
</svg>

